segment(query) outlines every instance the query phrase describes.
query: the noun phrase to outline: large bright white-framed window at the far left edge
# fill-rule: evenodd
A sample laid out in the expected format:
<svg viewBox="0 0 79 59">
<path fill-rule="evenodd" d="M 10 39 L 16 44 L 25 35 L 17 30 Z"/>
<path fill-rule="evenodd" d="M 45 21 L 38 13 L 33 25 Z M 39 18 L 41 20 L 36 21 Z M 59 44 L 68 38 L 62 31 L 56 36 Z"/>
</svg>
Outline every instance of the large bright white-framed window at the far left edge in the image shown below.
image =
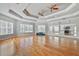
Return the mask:
<svg viewBox="0 0 79 59">
<path fill-rule="evenodd" d="M 13 23 L 0 20 L 0 35 L 13 34 Z"/>
</svg>

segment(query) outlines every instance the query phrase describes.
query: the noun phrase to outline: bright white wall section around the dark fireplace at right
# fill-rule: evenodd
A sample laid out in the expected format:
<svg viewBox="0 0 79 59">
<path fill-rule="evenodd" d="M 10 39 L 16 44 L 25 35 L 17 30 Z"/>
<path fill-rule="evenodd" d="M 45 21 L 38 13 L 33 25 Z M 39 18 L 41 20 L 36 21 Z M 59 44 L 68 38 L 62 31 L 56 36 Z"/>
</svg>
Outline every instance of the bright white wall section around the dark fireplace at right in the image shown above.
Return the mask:
<svg viewBox="0 0 79 59">
<path fill-rule="evenodd" d="M 60 26 L 61 34 L 65 34 L 65 31 L 66 32 L 69 31 L 69 35 L 77 36 L 76 24 L 61 24 Z"/>
</svg>

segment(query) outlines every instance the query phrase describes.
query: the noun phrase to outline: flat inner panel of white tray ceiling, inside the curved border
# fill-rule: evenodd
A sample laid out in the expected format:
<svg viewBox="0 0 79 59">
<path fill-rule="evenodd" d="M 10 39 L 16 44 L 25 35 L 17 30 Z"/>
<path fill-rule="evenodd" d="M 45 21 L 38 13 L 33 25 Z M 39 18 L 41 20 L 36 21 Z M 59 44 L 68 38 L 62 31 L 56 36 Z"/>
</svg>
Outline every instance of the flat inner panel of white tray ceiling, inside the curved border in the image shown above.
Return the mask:
<svg viewBox="0 0 79 59">
<path fill-rule="evenodd" d="M 49 7 L 51 7 L 51 5 L 54 5 L 54 3 L 3 3 L 0 4 L 0 11 L 8 12 L 9 9 L 12 9 L 20 15 L 26 16 L 23 14 L 23 10 L 26 8 L 32 15 L 39 16 L 38 12 L 41 12 L 41 10 L 46 10 L 44 15 L 49 15 L 54 13 L 50 12 Z M 70 3 L 58 3 L 57 5 L 59 6 L 59 11 L 61 11 L 67 8 Z"/>
</svg>

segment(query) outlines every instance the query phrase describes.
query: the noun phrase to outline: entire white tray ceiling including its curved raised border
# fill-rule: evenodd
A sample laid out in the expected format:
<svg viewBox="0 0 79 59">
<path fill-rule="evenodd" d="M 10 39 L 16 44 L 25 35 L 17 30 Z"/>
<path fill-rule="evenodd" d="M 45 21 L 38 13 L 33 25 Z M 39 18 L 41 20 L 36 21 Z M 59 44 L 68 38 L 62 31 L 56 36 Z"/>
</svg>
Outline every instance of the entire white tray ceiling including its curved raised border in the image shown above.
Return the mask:
<svg viewBox="0 0 79 59">
<path fill-rule="evenodd" d="M 55 3 L 0 3 L 0 13 L 4 14 L 9 14 L 11 16 L 15 16 L 9 13 L 9 10 L 13 10 L 16 14 L 19 14 L 20 16 L 23 17 L 23 19 L 33 19 L 33 20 L 38 20 L 38 19 L 56 19 L 65 15 L 69 15 L 72 13 L 75 13 L 79 10 L 78 8 L 78 3 L 77 4 L 72 4 L 72 3 L 56 3 L 59 6 L 59 11 L 57 12 L 50 12 L 49 7 Z M 23 10 L 27 9 L 30 14 L 38 16 L 39 18 L 34 18 L 31 16 L 26 16 L 23 13 Z M 44 16 L 38 15 L 38 12 L 41 10 L 46 10 L 44 13 Z M 62 12 L 63 11 L 63 12 Z M 17 17 L 17 16 L 15 16 Z"/>
</svg>

